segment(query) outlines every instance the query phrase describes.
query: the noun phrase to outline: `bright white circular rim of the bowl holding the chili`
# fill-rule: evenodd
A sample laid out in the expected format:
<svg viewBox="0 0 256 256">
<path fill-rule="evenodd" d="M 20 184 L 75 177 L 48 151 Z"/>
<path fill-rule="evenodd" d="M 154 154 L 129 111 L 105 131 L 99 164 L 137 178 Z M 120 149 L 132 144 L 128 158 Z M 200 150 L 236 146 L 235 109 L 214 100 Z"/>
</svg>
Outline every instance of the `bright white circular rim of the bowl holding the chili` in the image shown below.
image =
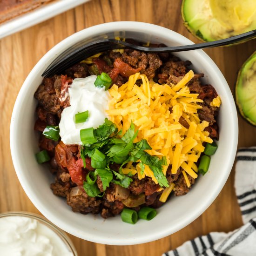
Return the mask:
<svg viewBox="0 0 256 256">
<path fill-rule="evenodd" d="M 56 226 L 60 227 L 61 229 L 65 230 L 66 232 L 80 237 L 82 239 L 86 239 L 88 241 L 94 242 L 94 243 L 103 243 L 103 244 L 111 244 L 111 245 L 132 245 L 132 244 L 139 244 L 139 243 L 148 243 L 151 241 L 155 241 L 157 239 L 160 239 L 162 237 L 168 236 L 170 234 L 173 234 L 177 232 L 178 230 L 184 228 L 191 222 L 193 222 L 197 217 L 199 217 L 210 205 L 211 203 L 216 199 L 217 195 L 219 195 L 220 191 L 222 190 L 224 184 L 226 183 L 229 173 L 232 169 L 235 156 L 236 156 L 236 148 L 237 148 L 237 143 L 238 143 L 238 119 L 237 119 L 237 113 L 236 113 L 236 106 L 234 100 L 230 102 L 230 115 L 232 115 L 231 120 L 233 123 L 230 123 L 230 129 L 232 129 L 233 137 L 234 140 L 230 141 L 230 154 L 229 154 L 229 160 L 226 162 L 227 166 L 227 171 L 223 173 L 221 181 L 216 184 L 216 188 L 214 191 L 211 193 L 211 197 L 209 197 L 209 200 L 207 202 L 203 202 L 201 204 L 201 207 L 198 207 L 197 209 L 194 209 L 193 211 L 190 212 L 190 215 L 186 218 L 183 219 L 182 221 L 176 223 L 175 226 L 169 227 L 168 225 L 165 226 L 164 229 L 158 229 L 158 233 L 151 234 L 148 232 L 146 236 L 140 236 L 136 237 L 136 240 L 134 238 L 129 238 L 126 240 L 122 240 L 121 237 L 120 239 L 113 239 L 111 237 L 108 237 L 106 235 L 97 235 L 97 237 L 91 237 L 90 232 L 84 230 L 83 233 L 81 232 L 76 232 L 71 225 L 68 225 L 65 221 L 59 219 L 57 216 L 54 216 L 51 214 L 50 211 L 44 208 L 44 205 L 41 204 L 40 201 L 37 200 L 37 198 L 31 193 L 31 189 L 29 187 L 29 183 L 26 181 L 26 179 L 22 176 L 22 170 L 20 168 L 20 163 L 18 160 L 18 157 L 16 157 L 17 154 L 19 154 L 18 150 L 16 149 L 15 146 L 15 129 L 16 129 L 16 124 L 15 124 L 15 116 L 17 115 L 17 112 L 19 111 L 19 105 L 22 100 L 22 95 L 26 93 L 27 88 L 29 88 L 30 82 L 34 80 L 34 77 L 38 75 L 37 69 L 41 66 L 46 67 L 46 61 L 49 61 L 50 59 L 53 59 L 53 56 L 55 56 L 56 51 L 58 52 L 59 47 L 62 47 L 63 45 L 68 45 L 72 42 L 73 38 L 80 36 L 80 35 L 85 35 L 84 38 L 87 38 L 89 33 L 92 33 L 92 31 L 98 31 L 98 34 L 103 33 L 104 29 L 109 29 L 111 27 L 112 31 L 132 31 L 132 32 L 141 32 L 141 33 L 152 33 L 152 30 L 155 31 L 161 31 L 162 33 L 172 33 L 174 36 L 179 38 L 180 40 L 184 41 L 184 44 L 194 44 L 191 40 L 187 39 L 181 34 L 178 34 L 168 28 L 157 26 L 154 24 L 149 24 L 149 23 L 144 23 L 144 22 L 137 22 L 137 21 L 116 21 L 116 22 L 109 22 L 109 23 L 104 23 L 104 24 L 99 24 L 93 27 L 88 27 L 85 28 L 75 34 L 70 35 L 66 39 L 62 40 L 59 42 L 57 45 L 55 45 L 52 49 L 50 49 L 34 66 L 34 68 L 31 70 L 31 72 L 28 74 L 26 80 L 24 81 L 22 87 L 20 88 L 20 92 L 17 96 L 17 99 L 15 101 L 14 107 L 13 107 L 13 114 L 12 114 L 12 119 L 11 119 L 11 125 L 10 125 L 10 147 L 11 147 L 11 155 L 13 159 L 13 165 L 16 171 L 16 174 L 19 178 L 19 181 L 21 183 L 22 188 L 26 192 L 27 196 L 29 199 L 33 202 L 34 206 L 44 215 L 49 219 L 51 222 L 53 222 Z M 203 58 L 205 61 L 207 61 L 211 66 L 212 70 L 215 72 L 215 74 L 222 80 L 222 84 L 225 88 L 225 92 L 229 94 L 229 97 L 233 99 L 233 96 L 231 94 L 230 88 L 219 70 L 219 68 L 216 66 L 215 62 L 211 60 L 211 58 L 202 50 L 195 50 L 197 51 L 197 54 L 201 55 L 201 58 Z"/>
</svg>

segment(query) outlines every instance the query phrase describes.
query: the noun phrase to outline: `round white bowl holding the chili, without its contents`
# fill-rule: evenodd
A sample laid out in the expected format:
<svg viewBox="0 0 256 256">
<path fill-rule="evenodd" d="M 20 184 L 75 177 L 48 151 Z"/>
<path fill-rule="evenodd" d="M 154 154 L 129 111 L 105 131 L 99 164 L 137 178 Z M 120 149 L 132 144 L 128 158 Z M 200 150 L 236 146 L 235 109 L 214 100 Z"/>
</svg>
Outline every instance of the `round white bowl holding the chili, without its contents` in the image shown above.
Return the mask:
<svg viewBox="0 0 256 256">
<path fill-rule="evenodd" d="M 20 183 L 35 207 L 56 226 L 68 233 L 95 243 L 129 245 L 154 241 L 173 234 L 200 216 L 220 193 L 232 168 L 238 141 L 238 121 L 229 86 L 216 64 L 202 50 L 177 53 L 182 60 L 193 63 L 193 69 L 204 73 L 203 82 L 211 84 L 222 99 L 218 117 L 220 139 L 216 154 L 211 157 L 209 171 L 198 178 L 191 191 L 173 197 L 157 209 L 157 216 L 135 225 L 121 221 L 120 216 L 104 220 L 101 216 L 74 213 L 61 197 L 50 189 L 53 177 L 34 157 L 38 137 L 34 132 L 34 92 L 42 81 L 41 74 L 63 51 L 95 39 L 121 36 L 141 41 L 161 42 L 168 46 L 192 44 L 184 36 L 164 27 L 141 22 L 112 22 L 89 27 L 53 47 L 27 76 L 13 108 L 10 145 L 14 168 Z"/>
</svg>

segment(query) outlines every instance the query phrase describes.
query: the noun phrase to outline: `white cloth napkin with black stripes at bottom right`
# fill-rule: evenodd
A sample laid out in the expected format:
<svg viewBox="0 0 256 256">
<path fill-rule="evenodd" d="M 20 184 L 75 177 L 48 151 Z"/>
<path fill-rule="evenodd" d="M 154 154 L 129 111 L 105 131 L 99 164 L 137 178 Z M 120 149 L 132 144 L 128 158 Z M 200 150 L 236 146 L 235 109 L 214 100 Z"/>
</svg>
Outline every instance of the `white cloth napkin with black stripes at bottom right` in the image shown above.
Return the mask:
<svg viewBox="0 0 256 256">
<path fill-rule="evenodd" d="M 162 256 L 256 256 L 256 147 L 240 148 L 236 160 L 235 189 L 245 224 L 196 237 Z"/>
</svg>

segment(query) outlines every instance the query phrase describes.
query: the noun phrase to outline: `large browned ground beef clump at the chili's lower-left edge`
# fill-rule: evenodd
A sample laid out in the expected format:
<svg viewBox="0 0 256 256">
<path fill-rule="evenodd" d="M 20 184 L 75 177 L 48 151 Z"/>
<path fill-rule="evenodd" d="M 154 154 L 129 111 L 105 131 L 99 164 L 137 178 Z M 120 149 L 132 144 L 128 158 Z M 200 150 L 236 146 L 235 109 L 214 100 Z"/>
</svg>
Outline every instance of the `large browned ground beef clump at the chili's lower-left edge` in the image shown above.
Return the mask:
<svg viewBox="0 0 256 256">
<path fill-rule="evenodd" d="M 97 214 L 100 212 L 101 200 L 88 196 L 85 191 L 77 196 L 70 196 L 69 192 L 67 193 L 67 204 L 74 212 L 81 212 L 83 214 L 92 212 Z"/>
</svg>

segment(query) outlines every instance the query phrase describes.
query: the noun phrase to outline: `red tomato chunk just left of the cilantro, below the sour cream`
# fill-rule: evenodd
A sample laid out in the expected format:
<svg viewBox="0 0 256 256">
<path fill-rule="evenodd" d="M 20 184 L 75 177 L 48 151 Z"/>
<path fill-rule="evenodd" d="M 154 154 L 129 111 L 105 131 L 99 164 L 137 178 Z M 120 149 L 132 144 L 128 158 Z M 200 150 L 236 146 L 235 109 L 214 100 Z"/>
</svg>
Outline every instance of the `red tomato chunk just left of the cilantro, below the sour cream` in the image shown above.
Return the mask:
<svg viewBox="0 0 256 256">
<path fill-rule="evenodd" d="M 69 171 L 70 178 L 72 182 L 76 183 L 78 186 L 83 185 L 85 181 L 85 174 L 82 170 L 83 161 L 82 159 L 75 160 L 74 157 L 70 159 L 67 164 L 67 169 Z"/>
</svg>

